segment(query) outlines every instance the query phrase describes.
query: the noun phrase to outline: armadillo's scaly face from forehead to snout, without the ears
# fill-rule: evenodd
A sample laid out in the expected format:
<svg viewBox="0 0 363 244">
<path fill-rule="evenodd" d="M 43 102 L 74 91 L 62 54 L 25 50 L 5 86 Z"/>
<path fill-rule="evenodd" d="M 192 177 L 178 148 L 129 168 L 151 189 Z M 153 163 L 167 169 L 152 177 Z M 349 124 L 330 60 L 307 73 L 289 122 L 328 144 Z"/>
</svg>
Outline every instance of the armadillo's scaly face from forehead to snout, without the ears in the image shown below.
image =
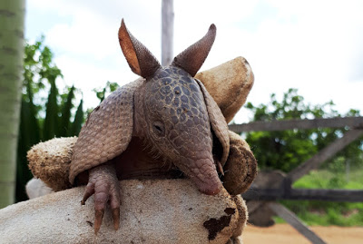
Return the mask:
<svg viewBox="0 0 363 244">
<path fill-rule="evenodd" d="M 201 87 L 181 68 L 159 69 L 135 93 L 134 133 L 172 161 L 201 192 L 214 195 L 221 181 L 212 155 L 211 122 Z"/>
</svg>

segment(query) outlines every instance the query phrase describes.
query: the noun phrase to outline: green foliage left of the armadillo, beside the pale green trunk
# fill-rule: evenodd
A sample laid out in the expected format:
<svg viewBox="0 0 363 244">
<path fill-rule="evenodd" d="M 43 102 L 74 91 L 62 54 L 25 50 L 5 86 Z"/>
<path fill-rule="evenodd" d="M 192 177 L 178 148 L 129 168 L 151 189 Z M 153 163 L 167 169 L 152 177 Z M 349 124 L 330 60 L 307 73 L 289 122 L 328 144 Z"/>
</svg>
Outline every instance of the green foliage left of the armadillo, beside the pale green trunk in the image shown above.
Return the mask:
<svg viewBox="0 0 363 244">
<path fill-rule="evenodd" d="M 38 142 L 54 137 L 78 135 L 84 114 L 83 100 L 72 120 L 74 86 L 60 93 L 57 78 L 61 70 L 53 62 L 51 50 L 44 45 L 44 37 L 35 44 L 25 44 L 25 63 L 21 122 L 18 137 L 16 170 L 16 201 L 26 200 L 25 184 L 33 175 L 27 167 L 26 152 Z M 46 97 L 44 94 L 48 93 Z"/>
</svg>

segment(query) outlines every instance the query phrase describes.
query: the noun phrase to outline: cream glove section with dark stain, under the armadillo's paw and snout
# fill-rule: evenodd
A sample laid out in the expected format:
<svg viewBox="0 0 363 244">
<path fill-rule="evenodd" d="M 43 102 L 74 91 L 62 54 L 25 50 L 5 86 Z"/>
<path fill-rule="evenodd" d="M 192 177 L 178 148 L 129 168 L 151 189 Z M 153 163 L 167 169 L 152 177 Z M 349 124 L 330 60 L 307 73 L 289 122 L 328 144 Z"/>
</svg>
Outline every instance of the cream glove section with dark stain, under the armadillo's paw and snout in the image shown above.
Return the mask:
<svg viewBox="0 0 363 244">
<path fill-rule="evenodd" d="M 207 196 L 189 180 L 121 181 L 121 227 L 113 229 L 107 209 L 95 236 L 93 197 L 82 206 L 83 190 L 62 190 L 0 210 L 0 243 L 224 244 L 240 234 L 247 219 L 244 201 L 224 189 Z"/>
</svg>

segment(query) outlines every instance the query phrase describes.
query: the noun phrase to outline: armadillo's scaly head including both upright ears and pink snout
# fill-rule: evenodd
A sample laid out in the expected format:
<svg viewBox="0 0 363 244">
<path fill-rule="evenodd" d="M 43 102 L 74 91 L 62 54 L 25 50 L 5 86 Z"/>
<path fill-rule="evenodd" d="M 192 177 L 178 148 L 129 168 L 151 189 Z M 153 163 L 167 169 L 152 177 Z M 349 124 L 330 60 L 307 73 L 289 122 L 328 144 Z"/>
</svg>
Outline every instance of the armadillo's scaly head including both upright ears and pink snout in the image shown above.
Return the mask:
<svg viewBox="0 0 363 244">
<path fill-rule="evenodd" d="M 198 83 L 192 78 L 214 42 L 216 28 L 162 67 L 124 23 L 119 40 L 132 71 L 145 78 L 134 98 L 134 131 L 163 159 L 172 161 L 201 192 L 214 195 L 221 181 L 212 156 L 211 122 Z"/>
</svg>

